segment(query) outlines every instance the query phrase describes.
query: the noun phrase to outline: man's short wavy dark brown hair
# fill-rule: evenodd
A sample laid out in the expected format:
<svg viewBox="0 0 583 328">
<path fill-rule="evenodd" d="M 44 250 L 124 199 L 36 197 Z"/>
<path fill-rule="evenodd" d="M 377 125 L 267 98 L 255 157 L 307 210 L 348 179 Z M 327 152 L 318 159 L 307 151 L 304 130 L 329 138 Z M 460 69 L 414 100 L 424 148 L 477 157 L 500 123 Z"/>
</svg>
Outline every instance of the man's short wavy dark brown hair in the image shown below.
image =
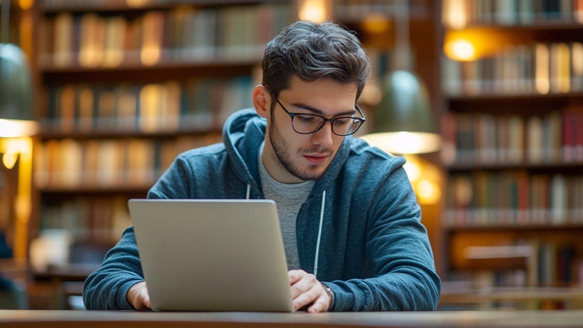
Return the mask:
<svg viewBox="0 0 583 328">
<path fill-rule="evenodd" d="M 356 82 L 358 99 L 370 74 L 370 61 L 359 39 L 345 26 L 300 20 L 269 41 L 262 68 L 262 84 L 275 96 L 289 88 L 291 76 L 296 75 L 305 82 Z"/>
</svg>

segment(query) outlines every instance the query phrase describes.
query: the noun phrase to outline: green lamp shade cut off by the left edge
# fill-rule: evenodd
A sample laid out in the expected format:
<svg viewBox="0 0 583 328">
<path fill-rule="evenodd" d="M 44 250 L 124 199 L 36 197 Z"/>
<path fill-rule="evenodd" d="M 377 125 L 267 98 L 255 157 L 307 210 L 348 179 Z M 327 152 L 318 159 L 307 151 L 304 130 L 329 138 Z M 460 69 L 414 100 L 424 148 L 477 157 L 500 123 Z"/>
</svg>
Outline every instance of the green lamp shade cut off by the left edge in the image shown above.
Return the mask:
<svg viewBox="0 0 583 328">
<path fill-rule="evenodd" d="M 26 56 L 14 44 L 0 44 L 0 137 L 36 134 L 33 90 Z"/>
</svg>

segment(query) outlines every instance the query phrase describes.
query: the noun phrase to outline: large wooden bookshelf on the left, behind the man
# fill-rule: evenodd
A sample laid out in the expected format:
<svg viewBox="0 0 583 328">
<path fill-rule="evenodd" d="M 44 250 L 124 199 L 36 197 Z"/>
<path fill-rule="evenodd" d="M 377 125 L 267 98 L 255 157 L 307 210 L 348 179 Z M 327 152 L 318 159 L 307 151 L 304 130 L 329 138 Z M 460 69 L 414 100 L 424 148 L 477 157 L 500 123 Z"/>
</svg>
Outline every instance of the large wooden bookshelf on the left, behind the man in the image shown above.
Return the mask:
<svg viewBox="0 0 583 328">
<path fill-rule="evenodd" d="M 79 4 L 35 4 L 30 234 L 113 246 L 131 224 L 127 200 L 144 198 L 178 153 L 220 142 L 226 117 L 251 106 L 265 44 L 295 15 L 289 1 Z"/>
</svg>

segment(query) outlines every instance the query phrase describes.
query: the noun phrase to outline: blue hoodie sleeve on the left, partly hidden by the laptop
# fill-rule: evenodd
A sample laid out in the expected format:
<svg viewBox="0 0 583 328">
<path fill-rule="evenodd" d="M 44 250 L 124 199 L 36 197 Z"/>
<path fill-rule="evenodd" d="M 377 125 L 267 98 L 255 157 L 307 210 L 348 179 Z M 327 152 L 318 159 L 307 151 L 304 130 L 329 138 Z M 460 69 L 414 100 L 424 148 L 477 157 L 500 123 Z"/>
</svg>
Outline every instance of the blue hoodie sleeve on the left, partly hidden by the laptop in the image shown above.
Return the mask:
<svg viewBox="0 0 583 328">
<path fill-rule="evenodd" d="M 184 186 L 188 165 L 179 156 L 154 184 L 147 198 L 188 198 Z M 87 277 L 83 285 L 83 303 L 88 310 L 131 310 L 134 309 L 125 298 L 132 285 L 143 281 L 142 266 L 134 227 L 129 226 L 122 233 L 120 241 L 107 252 L 103 263 Z"/>
</svg>

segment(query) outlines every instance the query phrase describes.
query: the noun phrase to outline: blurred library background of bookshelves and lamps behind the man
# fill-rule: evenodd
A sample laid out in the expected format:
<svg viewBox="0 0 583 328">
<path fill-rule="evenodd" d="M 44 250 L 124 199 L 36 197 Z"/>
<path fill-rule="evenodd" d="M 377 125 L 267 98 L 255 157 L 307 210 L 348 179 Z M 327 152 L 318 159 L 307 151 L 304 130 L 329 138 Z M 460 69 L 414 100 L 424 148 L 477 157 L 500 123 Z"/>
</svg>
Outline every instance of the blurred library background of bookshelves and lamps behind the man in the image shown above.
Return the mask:
<svg viewBox="0 0 583 328">
<path fill-rule="evenodd" d="M 128 200 L 308 19 L 366 48 L 356 136 L 407 159 L 438 310 L 583 310 L 582 0 L 0 2 L 0 309 L 84 309 Z"/>
</svg>

